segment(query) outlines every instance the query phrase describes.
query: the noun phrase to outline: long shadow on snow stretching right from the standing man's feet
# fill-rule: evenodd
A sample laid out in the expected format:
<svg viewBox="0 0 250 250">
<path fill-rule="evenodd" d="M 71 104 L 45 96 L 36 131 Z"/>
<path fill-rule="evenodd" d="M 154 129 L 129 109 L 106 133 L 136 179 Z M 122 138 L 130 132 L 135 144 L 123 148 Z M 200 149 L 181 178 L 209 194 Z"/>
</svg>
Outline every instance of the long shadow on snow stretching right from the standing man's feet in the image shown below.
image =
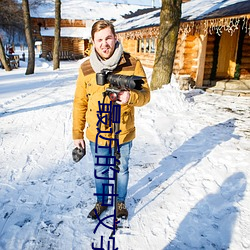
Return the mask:
<svg viewBox="0 0 250 250">
<path fill-rule="evenodd" d="M 174 173 L 182 170 L 188 165 L 189 166 L 185 172 L 190 168 L 196 167 L 216 146 L 229 141 L 232 138 L 239 139 L 239 136 L 233 134 L 235 129 L 234 123 L 235 119 L 229 119 L 223 123 L 202 129 L 198 134 L 191 137 L 178 149 L 173 151 L 171 155 L 162 159 L 158 168 L 154 169 L 136 184 L 131 186 L 128 190 L 129 197 L 135 201 L 140 200 L 142 197 L 149 195 L 153 190 L 166 182 L 172 175 L 174 175 Z M 183 175 L 184 174 L 185 173 L 183 173 Z M 172 184 L 173 182 L 169 183 L 164 189 L 161 189 L 161 191 L 140 210 L 155 200 Z M 136 213 L 140 212 L 140 210 Z M 131 215 L 135 215 L 134 211 Z"/>
</svg>

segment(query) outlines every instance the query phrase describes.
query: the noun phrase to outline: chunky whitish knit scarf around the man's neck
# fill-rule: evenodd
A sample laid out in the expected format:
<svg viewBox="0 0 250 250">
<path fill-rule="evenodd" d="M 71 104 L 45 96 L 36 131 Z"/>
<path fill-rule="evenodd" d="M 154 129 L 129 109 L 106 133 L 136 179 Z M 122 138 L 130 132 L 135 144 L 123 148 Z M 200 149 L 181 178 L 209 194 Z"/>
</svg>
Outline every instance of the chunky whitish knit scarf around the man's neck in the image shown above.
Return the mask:
<svg viewBox="0 0 250 250">
<path fill-rule="evenodd" d="M 103 60 L 98 55 L 98 53 L 96 52 L 93 46 L 92 52 L 90 54 L 90 64 L 96 73 L 101 73 L 103 69 L 113 71 L 117 67 L 121 59 L 122 53 L 123 53 L 123 47 L 121 43 L 117 41 L 115 44 L 115 50 L 114 50 L 113 55 L 109 59 Z"/>
</svg>

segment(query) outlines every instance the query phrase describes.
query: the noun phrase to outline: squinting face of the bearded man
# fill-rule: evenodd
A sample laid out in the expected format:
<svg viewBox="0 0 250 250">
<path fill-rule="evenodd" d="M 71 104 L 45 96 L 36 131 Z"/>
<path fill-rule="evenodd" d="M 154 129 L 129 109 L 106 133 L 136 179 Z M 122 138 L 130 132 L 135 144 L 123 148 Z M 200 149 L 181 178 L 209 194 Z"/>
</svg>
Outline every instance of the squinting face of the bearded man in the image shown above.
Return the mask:
<svg viewBox="0 0 250 250">
<path fill-rule="evenodd" d="M 109 27 L 94 34 L 94 46 L 102 59 L 109 59 L 115 50 L 116 36 Z"/>
</svg>

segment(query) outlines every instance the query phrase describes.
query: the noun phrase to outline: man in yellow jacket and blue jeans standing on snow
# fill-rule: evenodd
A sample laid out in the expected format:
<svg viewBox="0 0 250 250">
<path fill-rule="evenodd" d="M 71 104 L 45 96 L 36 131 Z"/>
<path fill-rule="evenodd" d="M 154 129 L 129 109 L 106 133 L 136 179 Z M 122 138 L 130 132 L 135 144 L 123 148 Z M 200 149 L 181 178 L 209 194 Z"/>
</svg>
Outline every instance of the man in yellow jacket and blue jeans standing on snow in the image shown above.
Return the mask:
<svg viewBox="0 0 250 250">
<path fill-rule="evenodd" d="M 101 162 L 99 156 L 101 155 L 103 158 L 110 157 L 109 145 L 110 142 L 112 142 L 112 145 L 114 142 L 112 141 L 112 139 L 114 140 L 114 134 L 111 133 L 110 127 L 104 124 L 104 122 L 100 122 L 100 116 L 98 120 L 100 103 L 105 101 L 105 103 L 108 104 L 110 103 L 110 99 L 103 97 L 103 93 L 109 87 L 109 84 L 98 85 L 96 82 L 96 73 L 101 73 L 102 70 L 105 69 L 111 71 L 112 74 L 143 77 L 141 90 L 123 89 L 118 93 L 118 100 L 116 101 L 117 104 L 121 105 L 121 132 L 119 133 L 121 157 L 119 159 L 120 170 L 117 179 L 118 197 L 116 215 L 118 218 L 126 218 L 128 216 L 128 211 L 125 206 L 129 177 L 128 161 L 132 140 L 135 138 L 134 107 L 143 106 L 149 102 L 150 90 L 140 61 L 123 51 L 111 22 L 100 20 L 94 23 L 91 30 L 91 37 L 93 50 L 90 58 L 82 63 L 79 69 L 73 104 L 74 144 L 76 147 L 85 147 L 83 130 L 87 123 L 86 137 L 90 141 L 90 149 L 95 162 L 95 176 L 100 177 L 95 178 L 97 203 L 90 211 L 88 215 L 89 218 L 96 219 L 95 211 L 99 216 L 107 209 L 109 197 L 108 178 L 111 175 L 109 174 L 111 171 L 109 171 L 109 167 L 105 164 L 105 159 Z M 101 123 L 99 132 L 102 132 L 102 136 L 99 137 L 97 130 L 98 123 Z M 114 152 L 114 149 L 112 152 Z M 100 166 L 100 162 L 103 165 Z"/>
</svg>

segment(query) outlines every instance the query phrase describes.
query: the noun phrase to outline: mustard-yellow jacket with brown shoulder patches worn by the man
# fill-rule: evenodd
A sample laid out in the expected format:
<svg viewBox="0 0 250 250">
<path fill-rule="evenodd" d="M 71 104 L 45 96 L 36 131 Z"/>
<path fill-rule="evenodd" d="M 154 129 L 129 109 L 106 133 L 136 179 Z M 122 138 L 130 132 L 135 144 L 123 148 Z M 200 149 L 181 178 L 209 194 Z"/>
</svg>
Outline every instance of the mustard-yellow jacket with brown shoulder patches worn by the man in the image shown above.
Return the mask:
<svg viewBox="0 0 250 250">
<path fill-rule="evenodd" d="M 112 73 L 144 77 L 142 90 L 130 90 L 128 104 L 121 105 L 119 144 L 122 144 L 135 138 L 134 107 L 140 107 L 149 102 L 150 90 L 140 61 L 128 53 L 123 53 L 119 65 Z M 107 125 L 108 123 L 105 125 L 104 120 L 101 122 L 101 132 L 99 132 L 99 134 L 97 130 L 97 123 L 100 120 L 98 119 L 98 114 L 100 114 L 98 113 L 100 112 L 98 101 L 103 103 L 103 92 L 105 92 L 108 87 L 109 84 L 105 84 L 104 86 L 97 85 L 96 73 L 93 71 L 89 60 L 82 63 L 79 69 L 73 102 L 73 140 L 84 138 L 83 131 L 86 122 L 86 137 L 90 141 L 97 142 L 98 140 L 98 144 L 104 146 L 106 143 L 109 144 L 108 140 L 112 141 L 111 138 L 114 138 L 114 133 L 110 133 L 111 127 Z M 109 97 L 105 98 L 105 103 L 110 103 Z"/>
</svg>

